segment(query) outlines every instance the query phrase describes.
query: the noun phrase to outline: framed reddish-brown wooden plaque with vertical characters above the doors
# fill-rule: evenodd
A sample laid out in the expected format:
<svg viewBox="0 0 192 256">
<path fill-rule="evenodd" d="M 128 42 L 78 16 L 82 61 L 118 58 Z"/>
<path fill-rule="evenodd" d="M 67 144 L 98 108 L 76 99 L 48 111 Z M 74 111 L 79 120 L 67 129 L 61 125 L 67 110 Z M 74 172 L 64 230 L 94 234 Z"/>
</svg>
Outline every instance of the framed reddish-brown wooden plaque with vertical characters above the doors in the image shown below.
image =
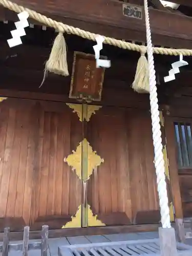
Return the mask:
<svg viewBox="0 0 192 256">
<path fill-rule="evenodd" d="M 102 57 L 104 58 L 104 57 Z M 74 53 L 69 98 L 100 101 L 104 68 L 96 68 L 95 55 Z"/>
</svg>

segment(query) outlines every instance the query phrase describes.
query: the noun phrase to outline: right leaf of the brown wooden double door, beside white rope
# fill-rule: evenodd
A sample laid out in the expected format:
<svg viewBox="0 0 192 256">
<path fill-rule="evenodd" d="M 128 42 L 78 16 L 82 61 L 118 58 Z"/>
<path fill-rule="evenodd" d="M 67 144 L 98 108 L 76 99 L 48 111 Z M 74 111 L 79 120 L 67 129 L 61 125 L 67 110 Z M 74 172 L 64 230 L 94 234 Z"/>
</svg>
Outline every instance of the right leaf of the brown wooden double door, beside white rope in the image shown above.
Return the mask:
<svg viewBox="0 0 192 256">
<path fill-rule="evenodd" d="M 88 226 L 159 222 L 150 112 L 102 106 L 86 138 Z"/>
</svg>

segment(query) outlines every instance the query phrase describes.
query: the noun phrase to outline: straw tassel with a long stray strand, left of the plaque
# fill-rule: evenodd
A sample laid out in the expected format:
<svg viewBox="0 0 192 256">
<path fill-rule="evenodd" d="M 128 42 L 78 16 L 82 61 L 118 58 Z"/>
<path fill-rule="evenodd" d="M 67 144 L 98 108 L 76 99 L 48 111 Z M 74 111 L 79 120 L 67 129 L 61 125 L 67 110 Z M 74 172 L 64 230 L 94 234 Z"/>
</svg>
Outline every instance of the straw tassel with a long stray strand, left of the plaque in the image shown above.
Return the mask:
<svg viewBox="0 0 192 256">
<path fill-rule="evenodd" d="M 66 40 L 61 32 L 59 32 L 54 40 L 51 54 L 49 59 L 46 61 L 44 79 L 42 80 L 40 87 L 44 83 L 48 72 L 62 76 L 69 76 Z"/>
</svg>

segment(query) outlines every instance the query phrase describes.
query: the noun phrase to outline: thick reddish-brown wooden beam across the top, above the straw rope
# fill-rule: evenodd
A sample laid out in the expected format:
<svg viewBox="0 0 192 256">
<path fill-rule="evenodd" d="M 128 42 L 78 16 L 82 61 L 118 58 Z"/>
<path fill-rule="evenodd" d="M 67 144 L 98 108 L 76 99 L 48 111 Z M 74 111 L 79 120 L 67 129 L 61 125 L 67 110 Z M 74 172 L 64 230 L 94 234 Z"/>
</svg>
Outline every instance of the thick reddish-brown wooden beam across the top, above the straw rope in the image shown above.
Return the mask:
<svg viewBox="0 0 192 256">
<path fill-rule="evenodd" d="M 144 17 L 143 19 L 125 17 L 122 11 L 122 2 L 120 1 L 65 0 L 60 5 L 47 5 L 46 2 L 34 5 L 25 0 L 15 0 L 14 2 L 52 18 L 57 18 L 57 20 L 68 25 L 80 27 L 91 32 L 100 33 L 101 30 L 98 27 L 101 28 L 102 26 L 104 35 L 111 36 L 113 34 L 116 38 L 129 39 L 127 36 L 125 38 L 126 33 L 129 31 L 130 39 L 133 39 L 131 34 L 135 32 L 145 40 Z M 192 24 L 191 17 L 150 9 L 150 18 L 153 38 L 155 36 L 163 36 L 165 37 L 164 42 L 168 42 L 172 38 L 192 40 L 192 32 L 188 29 Z M 110 28 L 113 30 L 111 33 Z M 119 30 L 121 31 L 119 32 Z M 139 38 L 139 36 L 137 35 L 136 37 Z"/>
</svg>

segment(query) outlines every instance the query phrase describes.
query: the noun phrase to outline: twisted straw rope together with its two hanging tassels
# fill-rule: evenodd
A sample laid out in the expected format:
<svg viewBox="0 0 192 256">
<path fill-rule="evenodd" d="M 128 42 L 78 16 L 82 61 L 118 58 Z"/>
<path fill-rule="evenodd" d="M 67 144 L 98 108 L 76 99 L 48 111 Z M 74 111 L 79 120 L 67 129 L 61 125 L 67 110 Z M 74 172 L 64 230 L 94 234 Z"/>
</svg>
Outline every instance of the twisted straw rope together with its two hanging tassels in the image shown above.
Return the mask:
<svg viewBox="0 0 192 256">
<path fill-rule="evenodd" d="M 45 77 L 48 71 L 53 72 L 55 74 L 63 75 L 63 76 L 69 75 L 68 65 L 67 65 L 66 41 L 65 41 L 65 38 L 63 37 L 64 32 L 78 35 L 78 36 L 81 36 L 82 38 L 86 38 L 93 41 L 95 41 L 96 37 L 98 36 L 97 34 L 84 31 L 79 28 L 74 28 L 72 26 L 68 26 L 61 22 L 56 22 L 56 20 L 48 18 L 45 15 L 41 15 L 40 13 L 37 13 L 36 11 L 30 10 L 23 6 L 19 6 L 15 3 L 12 3 L 9 0 L 0 0 L 0 5 L 17 13 L 27 11 L 29 13 L 29 16 L 37 20 L 37 22 L 45 24 L 46 26 L 52 27 L 57 31 L 59 31 L 59 34 L 55 38 L 50 57 L 47 60 L 45 65 L 44 79 L 42 83 L 45 81 Z M 106 36 L 103 36 L 103 37 L 104 37 L 105 44 L 116 46 L 122 49 L 137 51 L 141 53 L 141 56 L 138 60 L 137 70 L 136 70 L 134 82 L 132 84 L 132 88 L 138 93 L 149 93 L 150 86 L 149 86 L 149 80 L 148 80 L 148 63 L 145 57 L 147 48 L 145 46 L 132 44 L 131 42 L 125 42 L 122 40 L 117 40 L 115 38 L 106 37 Z M 152 48 L 152 50 L 156 54 L 164 54 L 164 55 L 182 54 L 184 56 L 192 55 L 192 50 L 187 50 L 187 49 L 168 49 L 168 48 L 154 47 Z"/>
</svg>

